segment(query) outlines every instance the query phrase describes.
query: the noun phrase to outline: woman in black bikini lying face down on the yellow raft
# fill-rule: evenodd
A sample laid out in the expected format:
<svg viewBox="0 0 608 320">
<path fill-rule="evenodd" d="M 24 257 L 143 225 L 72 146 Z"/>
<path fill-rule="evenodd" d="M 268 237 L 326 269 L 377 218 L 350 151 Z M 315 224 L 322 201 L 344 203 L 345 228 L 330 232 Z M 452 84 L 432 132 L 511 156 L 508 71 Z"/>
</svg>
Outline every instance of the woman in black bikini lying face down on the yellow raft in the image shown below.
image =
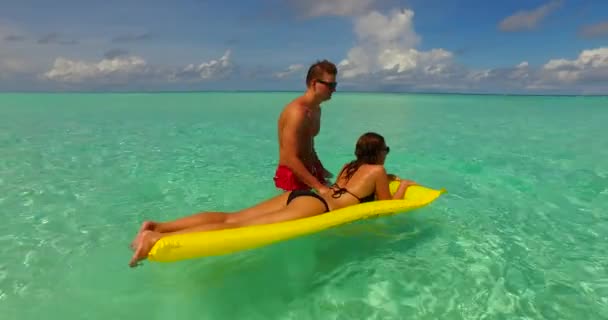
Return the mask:
<svg viewBox="0 0 608 320">
<path fill-rule="evenodd" d="M 135 250 L 129 265 L 145 259 L 154 244 L 165 235 L 239 228 L 306 218 L 331 210 L 374 200 L 402 199 L 409 180 L 400 180 L 386 173 L 384 161 L 390 149 L 377 133 L 363 134 L 355 146 L 356 159 L 344 165 L 330 191 L 292 191 L 273 197 L 236 213 L 202 212 L 171 222 L 146 221 L 131 247 Z M 393 196 L 391 180 L 400 180 Z"/>
</svg>

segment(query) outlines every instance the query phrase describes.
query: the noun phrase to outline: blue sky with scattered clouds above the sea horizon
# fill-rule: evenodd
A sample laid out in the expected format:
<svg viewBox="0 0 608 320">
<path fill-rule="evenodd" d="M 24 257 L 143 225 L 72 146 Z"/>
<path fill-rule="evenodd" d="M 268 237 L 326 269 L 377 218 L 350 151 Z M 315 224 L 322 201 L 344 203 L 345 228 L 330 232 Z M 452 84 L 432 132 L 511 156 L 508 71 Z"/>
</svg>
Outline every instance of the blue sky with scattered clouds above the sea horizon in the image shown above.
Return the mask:
<svg viewBox="0 0 608 320">
<path fill-rule="evenodd" d="M 608 92 L 608 1 L 0 0 L 0 91 Z"/>
</svg>

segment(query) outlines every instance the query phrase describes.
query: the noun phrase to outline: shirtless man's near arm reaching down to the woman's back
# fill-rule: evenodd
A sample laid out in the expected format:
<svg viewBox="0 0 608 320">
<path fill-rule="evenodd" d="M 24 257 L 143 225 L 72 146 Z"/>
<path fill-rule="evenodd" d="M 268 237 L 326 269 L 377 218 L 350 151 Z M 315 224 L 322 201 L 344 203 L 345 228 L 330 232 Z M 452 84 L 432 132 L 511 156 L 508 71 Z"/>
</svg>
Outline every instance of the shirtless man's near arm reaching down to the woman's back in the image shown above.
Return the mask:
<svg viewBox="0 0 608 320">
<path fill-rule="evenodd" d="M 304 134 L 304 130 L 306 129 L 305 120 L 305 115 L 301 110 L 292 109 L 287 114 L 285 125 L 281 132 L 283 135 L 281 137 L 283 141 L 283 158 L 287 161 L 285 165 L 293 171 L 300 181 L 321 192 L 327 189 L 327 187 L 321 184 L 304 166 L 298 154 L 302 144 L 305 143 L 303 140 L 306 139 Z"/>
</svg>

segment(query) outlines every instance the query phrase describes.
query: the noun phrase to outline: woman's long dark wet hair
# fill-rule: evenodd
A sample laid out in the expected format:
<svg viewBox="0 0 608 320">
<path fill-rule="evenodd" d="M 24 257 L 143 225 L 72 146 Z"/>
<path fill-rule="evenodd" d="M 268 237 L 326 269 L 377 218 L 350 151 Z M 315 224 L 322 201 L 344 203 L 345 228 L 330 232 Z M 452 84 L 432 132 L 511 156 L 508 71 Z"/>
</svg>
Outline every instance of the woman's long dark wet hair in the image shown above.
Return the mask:
<svg viewBox="0 0 608 320">
<path fill-rule="evenodd" d="M 385 146 L 383 136 L 375 132 L 364 133 L 359 137 L 355 146 L 356 159 L 344 166 L 338 178 L 346 170 L 345 178 L 348 181 L 362 164 L 378 164 L 381 152 L 385 150 Z"/>
</svg>

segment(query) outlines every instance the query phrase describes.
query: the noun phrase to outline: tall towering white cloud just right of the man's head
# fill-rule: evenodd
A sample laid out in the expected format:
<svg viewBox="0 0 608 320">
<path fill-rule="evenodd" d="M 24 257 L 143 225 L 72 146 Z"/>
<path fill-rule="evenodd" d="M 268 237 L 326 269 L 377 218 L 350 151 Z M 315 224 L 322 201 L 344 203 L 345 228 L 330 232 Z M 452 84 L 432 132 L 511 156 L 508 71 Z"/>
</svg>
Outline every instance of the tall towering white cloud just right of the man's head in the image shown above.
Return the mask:
<svg viewBox="0 0 608 320">
<path fill-rule="evenodd" d="M 414 31 L 414 12 L 394 10 L 389 15 L 373 11 L 355 19 L 357 45 L 338 67 L 344 78 L 385 74 L 387 80 L 414 74 L 440 76 L 452 64 L 445 49 L 418 51 L 420 37 Z"/>
</svg>

